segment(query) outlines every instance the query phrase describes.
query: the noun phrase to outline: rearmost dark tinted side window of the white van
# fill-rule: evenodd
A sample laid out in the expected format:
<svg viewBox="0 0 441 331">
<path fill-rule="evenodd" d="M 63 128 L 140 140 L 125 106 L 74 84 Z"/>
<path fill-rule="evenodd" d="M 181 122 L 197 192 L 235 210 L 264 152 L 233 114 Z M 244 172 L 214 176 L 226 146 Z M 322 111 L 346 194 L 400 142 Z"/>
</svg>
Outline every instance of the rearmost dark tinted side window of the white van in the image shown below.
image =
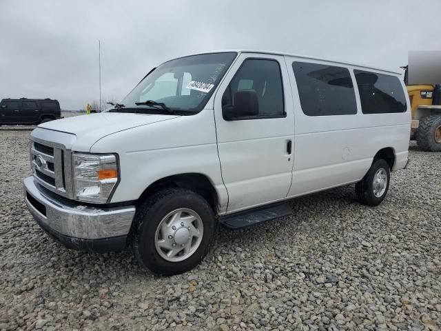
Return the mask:
<svg viewBox="0 0 441 331">
<path fill-rule="evenodd" d="M 363 114 L 405 112 L 406 97 L 400 79 L 388 74 L 353 70 L 360 92 Z"/>
</svg>

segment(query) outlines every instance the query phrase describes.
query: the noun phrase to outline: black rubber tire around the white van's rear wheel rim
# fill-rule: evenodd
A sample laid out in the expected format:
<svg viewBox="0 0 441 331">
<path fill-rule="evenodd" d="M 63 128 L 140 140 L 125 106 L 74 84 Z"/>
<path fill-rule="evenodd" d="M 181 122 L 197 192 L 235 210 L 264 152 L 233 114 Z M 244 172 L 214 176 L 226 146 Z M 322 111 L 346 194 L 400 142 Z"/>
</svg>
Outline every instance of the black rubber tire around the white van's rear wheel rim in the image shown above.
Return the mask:
<svg viewBox="0 0 441 331">
<path fill-rule="evenodd" d="M 387 174 L 386 189 L 380 197 L 377 197 L 374 193 L 374 177 L 380 169 L 384 169 Z M 356 183 L 356 194 L 360 203 L 364 205 L 379 205 L 382 203 L 386 197 L 387 191 L 389 190 L 389 182 L 391 180 L 391 172 L 389 170 L 389 165 L 383 159 L 374 159 L 371 168 L 365 174 L 365 177 L 358 183 Z"/>
</svg>

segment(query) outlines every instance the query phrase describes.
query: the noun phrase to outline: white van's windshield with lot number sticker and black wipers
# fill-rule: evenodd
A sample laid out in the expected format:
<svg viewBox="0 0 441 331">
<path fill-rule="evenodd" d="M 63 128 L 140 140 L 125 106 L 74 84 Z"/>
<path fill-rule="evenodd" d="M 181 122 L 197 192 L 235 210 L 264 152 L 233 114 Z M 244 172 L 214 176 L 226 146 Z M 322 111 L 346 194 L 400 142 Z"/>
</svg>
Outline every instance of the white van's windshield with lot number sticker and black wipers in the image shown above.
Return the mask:
<svg viewBox="0 0 441 331">
<path fill-rule="evenodd" d="M 121 101 L 124 107 L 119 108 L 119 112 L 133 108 L 199 112 L 235 57 L 235 52 L 225 52 L 193 55 L 165 62 L 148 74 Z M 165 107 L 158 107 L 158 103 Z"/>
</svg>

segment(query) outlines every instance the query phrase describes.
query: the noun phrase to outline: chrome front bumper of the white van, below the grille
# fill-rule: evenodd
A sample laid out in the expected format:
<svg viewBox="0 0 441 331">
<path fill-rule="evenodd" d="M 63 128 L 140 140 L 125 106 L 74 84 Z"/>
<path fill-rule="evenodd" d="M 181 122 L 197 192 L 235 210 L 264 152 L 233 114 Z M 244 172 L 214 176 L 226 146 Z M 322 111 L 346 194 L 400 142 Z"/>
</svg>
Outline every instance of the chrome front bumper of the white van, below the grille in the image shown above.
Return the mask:
<svg viewBox="0 0 441 331">
<path fill-rule="evenodd" d="M 68 248 L 110 251 L 125 246 L 135 214 L 133 205 L 114 208 L 80 205 L 42 188 L 32 176 L 25 179 L 24 185 L 25 202 L 34 219 Z"/>
</svg>

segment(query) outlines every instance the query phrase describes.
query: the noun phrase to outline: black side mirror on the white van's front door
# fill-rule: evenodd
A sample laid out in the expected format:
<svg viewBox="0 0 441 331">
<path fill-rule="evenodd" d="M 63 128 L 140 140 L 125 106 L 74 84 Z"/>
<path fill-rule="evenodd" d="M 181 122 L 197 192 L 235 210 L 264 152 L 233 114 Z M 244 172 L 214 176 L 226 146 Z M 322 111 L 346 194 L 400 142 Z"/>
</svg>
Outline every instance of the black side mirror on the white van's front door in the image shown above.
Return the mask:
<svg viewBox="0 0 441 331">
<path fill-rule="evenodd" d="M 224 106 L 222 114 L 226 121 L 257 116 L 259 114 L 259 103 L 256 91 L 243 90 L 234 93 L 234 105 Z"/>
</svg>

